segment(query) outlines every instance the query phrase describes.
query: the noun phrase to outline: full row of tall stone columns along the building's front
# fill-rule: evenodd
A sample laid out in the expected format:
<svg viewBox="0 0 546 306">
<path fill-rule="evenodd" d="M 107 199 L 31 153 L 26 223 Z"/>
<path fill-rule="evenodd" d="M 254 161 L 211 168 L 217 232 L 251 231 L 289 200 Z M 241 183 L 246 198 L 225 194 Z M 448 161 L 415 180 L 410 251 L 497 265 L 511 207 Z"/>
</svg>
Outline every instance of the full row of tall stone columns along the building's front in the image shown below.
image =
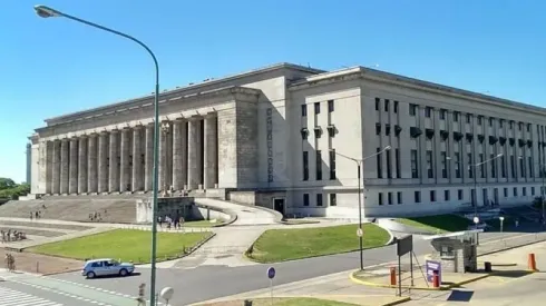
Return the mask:
<svg viewBox="0 0 546 306">
<path fill-rule="evenodd" d="M 160 190 L 217 188 L 217 117 L 163 121 Z M 203 131 L 203 132 L 202 132 Z M 47 141 L 47 194 L 152 191 L 154 125 Z"/>
</svg>

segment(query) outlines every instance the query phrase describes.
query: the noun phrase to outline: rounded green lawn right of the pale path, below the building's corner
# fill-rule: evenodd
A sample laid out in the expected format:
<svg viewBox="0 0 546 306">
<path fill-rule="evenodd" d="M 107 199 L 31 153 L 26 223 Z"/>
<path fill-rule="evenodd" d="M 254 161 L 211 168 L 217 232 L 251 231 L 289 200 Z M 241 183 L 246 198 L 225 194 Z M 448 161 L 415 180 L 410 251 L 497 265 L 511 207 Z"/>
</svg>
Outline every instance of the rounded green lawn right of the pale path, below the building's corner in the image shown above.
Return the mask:
<svg viewBox="0 0 546 306">
<path fill-rule="evenodd" d="M 255 241 L 250 258 L 259 263 L 277 263 L 359 249 L 358 225 L 270 229 Z M 383 246 L 389 233 L 364 224 L 364 248 Z"/>
</svg>

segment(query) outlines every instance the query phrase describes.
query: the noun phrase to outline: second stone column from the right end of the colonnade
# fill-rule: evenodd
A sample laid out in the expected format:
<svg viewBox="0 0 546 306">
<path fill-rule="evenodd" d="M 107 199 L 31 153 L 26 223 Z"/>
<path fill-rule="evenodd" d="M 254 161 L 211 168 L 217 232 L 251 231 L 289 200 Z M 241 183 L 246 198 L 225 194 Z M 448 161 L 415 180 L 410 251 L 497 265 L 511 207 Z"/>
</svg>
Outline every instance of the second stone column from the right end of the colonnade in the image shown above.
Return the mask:
<svg viewBox="0 0 546 306">
<path fill-rule="evenodd" d="M 202 184 L 201 158 L 201 120 L 191 118 L 187 125 L 187 185 L 188 189 L 197 189 Z"/>
</svg>

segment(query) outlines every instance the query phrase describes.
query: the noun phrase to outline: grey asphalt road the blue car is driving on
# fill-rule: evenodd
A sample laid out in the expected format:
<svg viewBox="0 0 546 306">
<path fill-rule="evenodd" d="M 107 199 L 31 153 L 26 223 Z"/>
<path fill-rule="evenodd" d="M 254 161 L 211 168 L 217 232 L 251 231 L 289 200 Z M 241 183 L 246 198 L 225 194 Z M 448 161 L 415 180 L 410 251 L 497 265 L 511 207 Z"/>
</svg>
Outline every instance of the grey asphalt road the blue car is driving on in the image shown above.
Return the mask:
<svg viewBox="0 0 546 306">
<path fill-rule="evenodd" d="M 416 237 L 415 251 L 422 255 L 430 251 L 428 241 Z M 387 246 L 364 251 L 364 265 L 378 265 L 394 260 L 396 247 Z M 312 277 L 339 273 L 359 266 L 359 253 L 349 253 L 294 260 L 273 265 L 276 269 L 275 284 L 286 284 Z M 203 266 L 194 269 L 159 269 L 157 287 L 175 289 L 174 305 L 218 298 L 250 290 L 265 288 L 270 285 L 265 276 L 267 265 L 244 267 Z M 53 276 L 57 279 L 85 284 L 98 288 L 115 288 L 123 294 L 134 294 L 139 283 L 149 280 L 149 269 L 139 269 L 142 275 L 127 278 L 84 279 L 78 273 Z"/>
</svg>

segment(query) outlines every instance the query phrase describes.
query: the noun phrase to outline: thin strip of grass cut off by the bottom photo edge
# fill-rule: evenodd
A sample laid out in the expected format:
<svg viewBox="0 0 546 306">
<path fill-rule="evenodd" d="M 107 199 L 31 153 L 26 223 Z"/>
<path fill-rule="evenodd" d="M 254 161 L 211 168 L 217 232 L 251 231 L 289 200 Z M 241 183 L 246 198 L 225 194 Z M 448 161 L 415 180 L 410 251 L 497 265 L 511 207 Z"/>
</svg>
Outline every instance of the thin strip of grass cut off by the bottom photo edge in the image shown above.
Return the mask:
<svg viewBox="0 0 546 306">
<path fill-rule="evenodd" d="M 223 305 L 243 305 L 243 300 L 235 302 L 218 302 L 205 304 L 204 306 L 223 306 Z M 270 306 L 270 298 L 254 298 L 253 306 Z M 348 304 L 335 300 L 309 298 L 309 297 L 274 297 L 273 305 L 275 306 L 355 306 L 357 304 Z"/>
</svg>

